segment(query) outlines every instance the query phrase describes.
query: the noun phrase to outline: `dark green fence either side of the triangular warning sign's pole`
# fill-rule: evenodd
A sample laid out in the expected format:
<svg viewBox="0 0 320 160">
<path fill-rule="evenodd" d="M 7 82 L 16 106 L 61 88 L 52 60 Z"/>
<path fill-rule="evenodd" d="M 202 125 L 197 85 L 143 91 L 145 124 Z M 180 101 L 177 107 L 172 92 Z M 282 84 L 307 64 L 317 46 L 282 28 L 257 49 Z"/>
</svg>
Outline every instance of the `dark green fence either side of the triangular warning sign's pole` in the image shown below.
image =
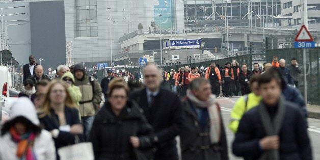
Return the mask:
<svg viewBox="0 0 320 160">
<path fill-rule="evenodd" d="M 302 70 L 302 73 L 299 74 L 298 89 L 304 95 L 302 49 L 286 48 L 266 50 L 267 62 L 271 63 L 274 56 L 278 56 L 278 60 L 285 59 L 286 64 L 290 63 L 291 58 L 297 58 L 298 65 Z M 308 103 L 320 105 L 320 47 L 306 50 L 306 63 L 307 100 Z"/>
</svg>

